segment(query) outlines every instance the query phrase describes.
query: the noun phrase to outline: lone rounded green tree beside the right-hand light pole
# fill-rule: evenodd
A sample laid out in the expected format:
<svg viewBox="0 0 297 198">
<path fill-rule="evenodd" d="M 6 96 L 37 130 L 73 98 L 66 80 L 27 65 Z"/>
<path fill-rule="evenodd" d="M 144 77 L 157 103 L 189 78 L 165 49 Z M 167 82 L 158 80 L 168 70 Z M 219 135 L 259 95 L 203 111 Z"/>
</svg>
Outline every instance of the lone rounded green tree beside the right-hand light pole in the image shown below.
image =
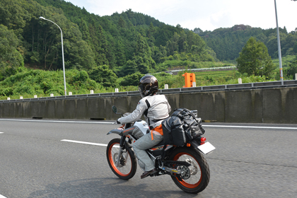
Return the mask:
<svg viewBox="0 0 297 198">
<path fill-rule="evenodd" d="M 255 76 L 271 76 L 274 64 L 263 42 L 250 37 L 236 59 L 238 71 L 241 74 Z"/>
</svg>

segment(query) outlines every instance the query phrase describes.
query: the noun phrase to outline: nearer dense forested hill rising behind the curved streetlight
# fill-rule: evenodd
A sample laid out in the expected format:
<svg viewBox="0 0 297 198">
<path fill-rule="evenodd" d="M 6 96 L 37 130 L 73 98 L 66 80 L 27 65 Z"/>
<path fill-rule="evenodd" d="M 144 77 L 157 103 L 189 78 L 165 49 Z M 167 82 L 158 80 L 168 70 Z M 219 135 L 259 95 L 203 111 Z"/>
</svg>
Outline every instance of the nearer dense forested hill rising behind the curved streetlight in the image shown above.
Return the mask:
<svg viewBox="0 0 297 198">
<path fill-rule="evenodd" d="M 214 60 L 199 35 L 131 10 L 100 17 L 60 0 L 2 0 L 0 4 L 0 23 L 13 30 L 18 52 L 30 66 L 62 69 L 59 28 L 40 16 L 63 30 L 66 69 L 88 71 L 107 65 L 118 76 L 126 76 L 154 71 L 170 56 Z"/>
</svg>

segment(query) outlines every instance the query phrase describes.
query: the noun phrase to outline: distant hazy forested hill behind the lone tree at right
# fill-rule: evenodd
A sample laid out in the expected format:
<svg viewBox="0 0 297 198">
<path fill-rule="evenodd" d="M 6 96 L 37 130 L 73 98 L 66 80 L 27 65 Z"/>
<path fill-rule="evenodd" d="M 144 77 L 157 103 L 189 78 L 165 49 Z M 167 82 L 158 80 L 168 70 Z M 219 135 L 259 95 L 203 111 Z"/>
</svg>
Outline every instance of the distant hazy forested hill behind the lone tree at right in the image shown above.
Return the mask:
<svg viewBox="0 0 297 198">
<path fill-rule="evenodd" d="M 262 28 L 252 28 L 249 25 L 234 25 L 232 28 L 219 28 L 214 31 L 202 31 L 200 28 L 195 28 L 194 33 L 199 34 L 205 40 L 221 61 L 235 60 L 250 37 L 255 37 L 263 42 L 272 59 L 278 58 L 276 28 L 263 30 Z M 296 55 L 297 33 L 295 31 L 288 33 L 284 27 L 279 28 L 279 34 L 281 56 Z"/>
</svg>

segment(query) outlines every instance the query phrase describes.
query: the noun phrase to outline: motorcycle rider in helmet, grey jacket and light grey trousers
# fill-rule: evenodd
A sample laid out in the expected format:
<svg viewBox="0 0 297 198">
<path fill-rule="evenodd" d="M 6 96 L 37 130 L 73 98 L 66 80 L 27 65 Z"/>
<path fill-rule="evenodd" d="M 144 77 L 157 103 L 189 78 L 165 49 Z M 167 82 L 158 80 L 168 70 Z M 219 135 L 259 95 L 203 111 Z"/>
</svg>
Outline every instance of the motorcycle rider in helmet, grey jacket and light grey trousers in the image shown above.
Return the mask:
<svg viewBox="0 0 297 198">
<path fill-rule="evenodd" d="M 158 81 L 155 76 L 147 75 L 139 81 L 139 92 L 141 100 L 136 109 L 126 117 L 117 120 L 120 124 L 136 122 L 144 115 L 146 123 L 151 131 L 134 142 L 134 152 L 142 163 L 145 165 L 145 172 L 141 175 L 141 179 L 157 172 L 151 158 L 146 153 L 146 149 L 151 148 L 163 140 L 163 130 L 161 122 L 169 117 L 171 107 L 165 95 L 158 95 Z"/>
</svg>

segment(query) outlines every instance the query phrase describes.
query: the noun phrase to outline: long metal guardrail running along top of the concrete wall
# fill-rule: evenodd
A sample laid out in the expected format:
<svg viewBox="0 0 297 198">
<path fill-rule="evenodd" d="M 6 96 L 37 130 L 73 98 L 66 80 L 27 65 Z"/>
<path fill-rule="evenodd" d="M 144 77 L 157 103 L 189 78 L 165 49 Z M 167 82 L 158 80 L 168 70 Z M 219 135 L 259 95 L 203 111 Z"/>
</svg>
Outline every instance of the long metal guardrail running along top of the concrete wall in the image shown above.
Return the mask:
<svg viewBox="0 0 297 198">
<path fill-rule="evenodd" d="M 199 86 L 192 88 L 168 88 L 160 89 L 158 93 L 189 93 L 199 91 L 227 91 L 237 89 L 252 89 L 252 88 L 281 88 L 288 86 L 297 86 L 297 80 L 293 81 L 269 81 L 262 83 L 242 83 L 242 84 L 230 84 L 221 86 Z M 44 98 L 24 98 L 24 99 L 13 99 L 13 100 L 0 100 L 0 103 L 16 103 L 26 101 L 37 101 L 37 100 L 62 100 L 62 99 L 73 99 L 73 98 L 103 98 L 103 97 L 114 97 L 114 96 L 129 96 L 129 95 L 140 95 L 139 91 L 125 91 L 125 92 L 113 92 L 113 93 L 93 93 L 83 95 L 62 95 Z"/>
</svg>

